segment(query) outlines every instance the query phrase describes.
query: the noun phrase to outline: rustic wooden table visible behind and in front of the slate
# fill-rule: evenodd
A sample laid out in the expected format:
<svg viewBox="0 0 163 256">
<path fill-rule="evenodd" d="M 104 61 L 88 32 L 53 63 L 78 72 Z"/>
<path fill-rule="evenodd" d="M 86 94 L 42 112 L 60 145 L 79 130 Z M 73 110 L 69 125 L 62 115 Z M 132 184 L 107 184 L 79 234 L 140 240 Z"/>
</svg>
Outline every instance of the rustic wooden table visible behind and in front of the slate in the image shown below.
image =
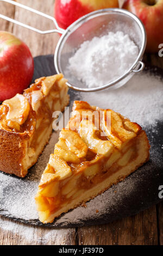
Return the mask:
<svg viewBox="0 0 163 256">
<path fill-rule="evenodd" d="M 53 0 L 18 0 L 53 16 Z M 0 2 L 0 13 L 39 29 L 53 22 L 21 8 Z M 0 30 L 14 33 L 29 46 L 33 56 L 54 53 L 59 35 L 40 35 L 0 19 Z M 162 42 L 163 43 L 163 42 Z M 163 68 L 163 58 L 146 55 L 145 61 Z M 37 228 L 0 217 L 0 245 L 163 245 L 163 203 L 122 220 L 104 225 L 70 229 Z"/>
</svg>

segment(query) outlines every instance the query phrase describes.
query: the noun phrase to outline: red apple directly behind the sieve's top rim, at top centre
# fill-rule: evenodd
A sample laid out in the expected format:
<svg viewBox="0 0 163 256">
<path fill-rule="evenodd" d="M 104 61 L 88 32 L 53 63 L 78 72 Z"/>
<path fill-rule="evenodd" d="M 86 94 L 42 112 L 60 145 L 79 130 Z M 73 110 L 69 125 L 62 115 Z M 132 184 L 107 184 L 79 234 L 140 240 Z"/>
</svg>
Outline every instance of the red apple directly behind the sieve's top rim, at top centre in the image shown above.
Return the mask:
<svg viewBox="0 0 163 256">
<path fill-rule="evenodd" d="M 66 29 L 91 11 L 118 7 L 118 0 L 55 0 L 54 17 L 59 27 Z"/>
</svg>

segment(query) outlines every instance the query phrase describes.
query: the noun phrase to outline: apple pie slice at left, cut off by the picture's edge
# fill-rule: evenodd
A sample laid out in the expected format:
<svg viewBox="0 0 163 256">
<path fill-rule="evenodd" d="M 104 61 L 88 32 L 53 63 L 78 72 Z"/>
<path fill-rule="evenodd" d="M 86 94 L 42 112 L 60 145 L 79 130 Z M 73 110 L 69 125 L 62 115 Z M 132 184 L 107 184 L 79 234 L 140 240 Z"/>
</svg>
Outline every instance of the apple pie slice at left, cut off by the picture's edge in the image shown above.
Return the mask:
<svg viewBox="0 0 163 256">
<path fill-rule="evenodd" d="M 0 170 L 24 177 L 52 133 L 52 114 L 63 111 L 69 95 L 62 74 L 41 77 L 23 94 L 0 106 Z"/>
</svg>

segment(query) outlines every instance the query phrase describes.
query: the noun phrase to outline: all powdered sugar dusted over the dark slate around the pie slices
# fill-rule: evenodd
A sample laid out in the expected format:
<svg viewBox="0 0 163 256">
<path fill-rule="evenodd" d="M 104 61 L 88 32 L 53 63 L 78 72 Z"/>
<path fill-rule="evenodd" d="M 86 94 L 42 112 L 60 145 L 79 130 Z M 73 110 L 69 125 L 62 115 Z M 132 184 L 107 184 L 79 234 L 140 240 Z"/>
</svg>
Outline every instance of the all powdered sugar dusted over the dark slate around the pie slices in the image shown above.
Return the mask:
<svg viewBox="0 0 163 256">
<path fill-rule="evenodd" d="M 98 93 L 74 93 L 70 91 L 71 104 L 76 99 L 85 100 L 91 105 L 114 109 L 114 111 L 130 118 L 131 121 L 136 121 L 142 125 L 147 131 L 152 146 L 151 160 L 123 182 L 91 200 L 87 203 L 87 208 L 79 207 L 69 211 L 58 218 L 55 223 L 49 225 L 72 227 L 85 223 L 95 224 L 95 222 L 111 221 L 115 217 L 120 218 L 127 216 L 127 214 L 134 214 L 137 209 L 146 208 L 149 203 L 156 203 L 160 185 L 158 182 L 163 180 L 161 176 L 162 142 L 159 136 L 161 130 L 158 130 L 159 126 L 156 125 L 158 120 L 163 120 L 162 87 L 160 77 L 154 77 L 149 72 L 143 72 L 141 75 L 135 75 L 125 86 L 117 90 L 104 90 Z M 39 161 L 30 169 L 26 178 L 20 179 L 0 173 L 0 214 L 40 224 L 37 220 L 34 196 L 40 176 L 49 160 L 49 154 L 53 153 L 58 136 L 59 132 L 53 132 L 49 144 L 43 150 Z M 138 192 L 139 199 L 137 198 Z M 14 225 L 8 228 L 15 230 Z M 4 224 L 3 228 L 7 229 L 7 225 Z M 32 237 L 29 229 L 27 236 Z"/>
</svg>

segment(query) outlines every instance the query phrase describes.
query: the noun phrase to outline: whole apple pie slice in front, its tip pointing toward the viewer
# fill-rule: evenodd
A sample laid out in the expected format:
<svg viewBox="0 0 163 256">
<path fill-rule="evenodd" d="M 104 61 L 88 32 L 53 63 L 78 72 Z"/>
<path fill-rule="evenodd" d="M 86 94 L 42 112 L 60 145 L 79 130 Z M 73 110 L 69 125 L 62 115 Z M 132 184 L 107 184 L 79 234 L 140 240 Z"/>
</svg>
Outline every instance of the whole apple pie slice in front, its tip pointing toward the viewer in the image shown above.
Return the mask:
<svg viewBox="0 0 163 256">
<path fill-rule="evenodd" d="M 149 159 L 146 132 L 112 111 L 74 101 L 72 116 L 37 191 L 40 221 L 53 222 L 126 178 Z"/>
</svg>

